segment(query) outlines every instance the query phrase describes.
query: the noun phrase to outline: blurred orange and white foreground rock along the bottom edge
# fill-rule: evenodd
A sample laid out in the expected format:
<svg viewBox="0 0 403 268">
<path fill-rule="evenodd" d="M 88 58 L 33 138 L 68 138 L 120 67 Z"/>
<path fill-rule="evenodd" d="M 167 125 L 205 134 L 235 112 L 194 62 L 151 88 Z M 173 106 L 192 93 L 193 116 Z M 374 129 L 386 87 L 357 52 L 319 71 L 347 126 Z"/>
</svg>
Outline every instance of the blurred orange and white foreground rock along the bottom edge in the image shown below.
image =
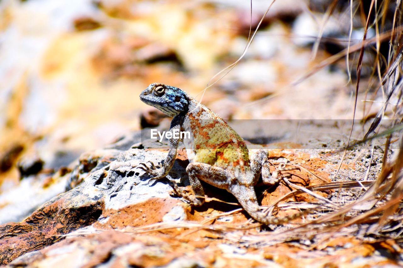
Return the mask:
<svg viewBox="0 0 403 268">
<path fill-rule="evenodd" d="M 200 246 L 199 246 L 200 247 Z M 11 266 L 95 267 L 206 267 L 211 260 L 192 243 L 179 243 L 166 237 L 131 235 L 119 231 L 93 233 L 86 237 L 71 237 L 28 256 L 21 256 Z M 27 254 L 25 254 L 27 255 Z"/>
</svg>

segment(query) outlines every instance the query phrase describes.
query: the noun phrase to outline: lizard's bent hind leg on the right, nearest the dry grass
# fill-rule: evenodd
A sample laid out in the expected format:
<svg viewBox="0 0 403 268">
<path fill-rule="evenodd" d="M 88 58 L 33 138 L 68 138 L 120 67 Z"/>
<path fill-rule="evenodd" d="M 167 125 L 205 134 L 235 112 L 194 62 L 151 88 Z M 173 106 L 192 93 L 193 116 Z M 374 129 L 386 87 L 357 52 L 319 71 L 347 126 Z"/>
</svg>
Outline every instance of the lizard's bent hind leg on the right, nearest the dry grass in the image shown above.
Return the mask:
<svg viewBox="0 0 403 268">
<path fill-rule="evenodd" d="M 280 176 L 270 173 L 270 163 L 265 150 L 260 149 L 256 157 L 250 162 L 254 174 L 253 185 L 258 183 L 260 174 L 262 174 L 263 183 L 266 185 L 274 185 L 280 180 Z"/>
</svg>

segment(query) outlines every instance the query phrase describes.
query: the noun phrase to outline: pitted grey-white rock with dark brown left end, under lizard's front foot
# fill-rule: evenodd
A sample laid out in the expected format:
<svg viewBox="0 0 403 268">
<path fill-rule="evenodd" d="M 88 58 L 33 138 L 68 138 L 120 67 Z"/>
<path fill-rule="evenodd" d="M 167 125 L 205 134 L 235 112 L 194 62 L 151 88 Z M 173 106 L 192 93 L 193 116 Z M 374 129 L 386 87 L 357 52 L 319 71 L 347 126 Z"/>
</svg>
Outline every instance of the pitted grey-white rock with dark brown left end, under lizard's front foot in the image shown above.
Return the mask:
<svg viewBox="0 0 403 268">
<path fill-rule="evenodd" d="M 115 145 L 122 146 L 119 142 L 124 140 L 116 142 Z M 149 183 L 144 180 L 143 172 L 137 169 L 140 162 L 155 162 L 154 159 L 162 159 L 165 153 L 159 150 L 125 149 L 123 146 L 123 150 L 110 148 L 82 155 L 79 164 L 71 173 L 71 177 L 76 178 L 75 181 L 83 179 L 81 184 L 77 183 L 79 185 L 72 190 L 52 198 L 27 219 L 19 223 L 1 225 L 0 264 L 7 264 L 24 253 L 51 245 L 60 239 L 60 235 L 91 225 L 110 210 L 132 206 L 150 198 L 174 200 L 169 196 L 171 188 L 166 182 Z M 184 167 L 178 162 L 175 163 L 171 174 L 178 183 L 181 178 L 186 177 Z M 70 174 L 65 176 L 68 175 Z M 59 178 L 58 184 L 65 183 L 66 177 L 64 180 Z M 16 191 L 18 192 L 18 189 Z M 160 211 L 160 208 L 169 203 L 161 202 L 160 205 L 155 203 L 152 207 Z M 165 213 L 169 212 L 174 204 L 176 202 L 168 205 Z M 2 212 L 4 211 L 2 208 Z M 155 221 L 162 221 L 163 216 L 164 213 Z M 104 216 L 104 225 L 112 224 L 108 222 L 108 218 L 113 219 Z"/>
</svg>

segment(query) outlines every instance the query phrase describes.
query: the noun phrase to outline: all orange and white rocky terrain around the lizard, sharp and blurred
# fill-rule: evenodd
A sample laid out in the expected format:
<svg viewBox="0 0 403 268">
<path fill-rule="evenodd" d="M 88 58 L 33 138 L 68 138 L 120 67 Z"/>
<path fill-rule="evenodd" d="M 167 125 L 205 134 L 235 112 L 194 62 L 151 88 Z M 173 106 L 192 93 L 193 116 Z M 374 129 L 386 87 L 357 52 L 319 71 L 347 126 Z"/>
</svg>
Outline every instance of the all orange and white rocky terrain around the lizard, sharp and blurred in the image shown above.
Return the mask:
<svg viewBox="0 0 403 268">
<path fill-rule="evenodd" d="M 1 263 L 401 265 L 399 238 L 364 237 L 368 226 L 353 227 L 354 235 L 345 229 L 319 235 L 319 241 L 313 234 L 320 226 L 308 234 L 295 229 L 357 198 L 360 183 L 368 185 L 361 181 L 376 179 L 383 165 L 380 140 L 374 150 L 353 148 L 336 172 L 342 158 L 336 150 L 349 138 L 359 52 L 347 63 L 343 56 L 325 64 L 346 47 L 350 31 L 349 3 L 338 3 L 327 16 L 329 3 L 275 1 L 245 57 L 201 98 L 208 81 L 243 53 L 266 1 L 253 1 L 252 11 L 248 1 L 232 0 L 0 1 Z M 360 12 L 351 47 L 364 33 Z M 367 37 L 374 33 L 369 29 Z M 382 91 L 365 79 L 379 74 L 373 72 L 375 56 L 368 46 L 355 119 L 373 118 L 383 105 Z M 158 163 L 167 146 L 139 129 L 166 129 L 170 121 L 138 98 L 151 82 L 183 88 L 223 118 L 236 119 L 231 124 L 251 153 L 264 147 L 273 165 L 293 168 L 285 172 L 288 182 L 256 187 L 274 216 L 320 209 L 285 226 L 262 227 L 225 191 L 205 185 L 206 204 L 192 208 L 167 181 L 149 181 L 137 164 Z M 385 119 L 394 107 L 388 105 Z M 368 124 L 357 121 L 353 140 L 363 137 Z M 396 146 L 391 144 L 389 156 Z M 171 175 L 191 192 L 186 165 L 180 148 Z M 300 186 L 315 191 L 312 186 L 328 181 L 359 183 L 345 191 L 321 189 L 316 196 L 290 194 Z M 399 237 L 399 226 L 385 232 Z"/>
</svg>

